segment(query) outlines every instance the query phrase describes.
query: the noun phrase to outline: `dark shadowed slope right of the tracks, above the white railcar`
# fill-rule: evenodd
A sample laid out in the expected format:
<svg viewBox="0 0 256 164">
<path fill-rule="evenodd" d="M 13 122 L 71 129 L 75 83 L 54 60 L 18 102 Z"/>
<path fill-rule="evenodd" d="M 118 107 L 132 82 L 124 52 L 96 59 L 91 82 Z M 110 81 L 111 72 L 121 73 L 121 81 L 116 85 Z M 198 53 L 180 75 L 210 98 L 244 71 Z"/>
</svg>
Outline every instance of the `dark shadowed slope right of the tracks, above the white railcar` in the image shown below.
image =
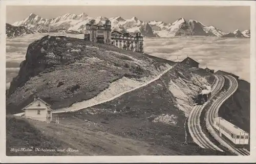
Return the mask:
<svg viewBox="0 0 256 164">
<path fill-rule="evenodd" d="M 219 115 L 250 132 L 250 83 L 238 80 L 238 85 L 237 91 L 220 107 Z"/>
</svg>

